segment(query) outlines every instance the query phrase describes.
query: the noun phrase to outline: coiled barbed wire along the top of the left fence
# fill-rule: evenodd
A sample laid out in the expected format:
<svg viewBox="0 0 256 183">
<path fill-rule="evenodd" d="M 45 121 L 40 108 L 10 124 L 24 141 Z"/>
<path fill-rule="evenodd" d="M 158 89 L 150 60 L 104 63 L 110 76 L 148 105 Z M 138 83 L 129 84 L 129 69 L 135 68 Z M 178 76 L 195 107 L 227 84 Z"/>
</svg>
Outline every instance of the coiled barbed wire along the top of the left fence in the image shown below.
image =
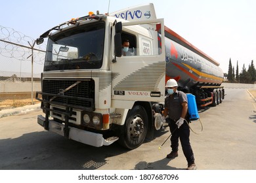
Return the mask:
<svg viewBox="0 0 256 183">
<path fill-rule="evenodd" d="M 35 39 L 10 27 L 0 25 L 0 55 L 6 58 L 18 60 L 31 60 L 33 49 L 33 61 L 43 64 L 45 59 L 46 44 L 34 44 Z"/>
</svg>

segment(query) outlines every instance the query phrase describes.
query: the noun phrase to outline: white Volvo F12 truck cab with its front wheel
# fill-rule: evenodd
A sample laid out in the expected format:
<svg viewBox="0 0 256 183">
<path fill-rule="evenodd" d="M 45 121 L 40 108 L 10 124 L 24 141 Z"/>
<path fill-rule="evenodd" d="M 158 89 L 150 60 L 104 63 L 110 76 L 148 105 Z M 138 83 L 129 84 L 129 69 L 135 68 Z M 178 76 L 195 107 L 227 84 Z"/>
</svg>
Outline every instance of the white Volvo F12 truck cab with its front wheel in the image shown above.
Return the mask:
<svg viewBox="0 0 256 183">
<path fill-rule="evenodd" d="M 135 9 L 129 12 L 136 21 L 91 13 L 37 39 L 48 38 L 36 94 L 45 116 L 38 116 L 38 124 L 92 146 L 119 141 L 133 149 L 152 134 L 152 103 L 165 95 L 164 39 L 158 41 L 164 25 L 163 19 L 140 19 Z M 139 10 L 148 16 L 150 9 L 152 4 Z M 123 39 L 129 39 L 132 56 L 121 55 Z"/>
</svg>

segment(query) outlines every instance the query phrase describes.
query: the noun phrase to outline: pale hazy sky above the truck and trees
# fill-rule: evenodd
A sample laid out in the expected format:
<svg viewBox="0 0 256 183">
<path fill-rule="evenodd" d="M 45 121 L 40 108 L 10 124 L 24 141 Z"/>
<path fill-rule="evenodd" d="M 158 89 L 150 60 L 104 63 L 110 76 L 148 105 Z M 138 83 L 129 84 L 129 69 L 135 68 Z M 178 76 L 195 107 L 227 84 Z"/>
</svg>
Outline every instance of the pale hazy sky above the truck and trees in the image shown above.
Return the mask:
<svg viewBox="0 0 256 183">
<path fill-rule="evenodd" d="M 251 60 L 256 65 L 255 0 L 1 1 L 0 25 L 33 39 L 89 11 L 115 12 L 153 3 L 157 18 L 164 18 L 167 27 L 219 62 L 224 73 L 228 73 L 230 59 L 235 71 L 238 61 L 239 73 Z"/>
</svg>

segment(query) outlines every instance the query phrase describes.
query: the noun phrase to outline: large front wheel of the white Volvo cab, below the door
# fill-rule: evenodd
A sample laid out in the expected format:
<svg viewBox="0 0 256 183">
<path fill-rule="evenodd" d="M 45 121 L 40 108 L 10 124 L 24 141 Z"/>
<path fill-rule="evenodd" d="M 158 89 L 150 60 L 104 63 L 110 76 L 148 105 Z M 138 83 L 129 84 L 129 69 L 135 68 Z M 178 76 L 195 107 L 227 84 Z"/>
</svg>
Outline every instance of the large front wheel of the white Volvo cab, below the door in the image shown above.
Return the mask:
<svg viewBox="0 0 256 183">
<path fill-rule="evenodd" d="M 119 137 L 119 144 L 125 148 L 135 149 L 144 142 L 147 131 L 148 116 L 146 110 L 144 107 L 136 105 L 127 115 Z"/>
</svg>

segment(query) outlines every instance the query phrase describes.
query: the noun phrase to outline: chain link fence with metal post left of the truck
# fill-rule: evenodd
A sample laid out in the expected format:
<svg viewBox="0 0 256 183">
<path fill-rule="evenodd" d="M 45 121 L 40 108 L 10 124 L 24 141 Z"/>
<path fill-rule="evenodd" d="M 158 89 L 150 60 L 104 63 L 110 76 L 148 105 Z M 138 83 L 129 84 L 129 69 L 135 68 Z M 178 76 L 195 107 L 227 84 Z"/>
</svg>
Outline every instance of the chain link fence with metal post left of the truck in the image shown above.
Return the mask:
<svg viewBox="0 0 256 183">
<path fill-rule="evenodd" d="M 0 25 L 0 110 L 38 103 L 46 44 Z"/>
</svg>

